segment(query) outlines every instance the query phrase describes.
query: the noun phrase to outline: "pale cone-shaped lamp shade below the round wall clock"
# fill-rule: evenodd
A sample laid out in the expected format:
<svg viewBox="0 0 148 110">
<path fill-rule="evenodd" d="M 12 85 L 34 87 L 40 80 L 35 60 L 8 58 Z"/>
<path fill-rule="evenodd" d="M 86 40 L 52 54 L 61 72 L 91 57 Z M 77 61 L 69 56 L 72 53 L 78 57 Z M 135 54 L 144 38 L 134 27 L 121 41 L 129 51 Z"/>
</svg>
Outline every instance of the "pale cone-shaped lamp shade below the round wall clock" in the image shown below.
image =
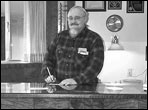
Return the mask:
<svg viewBox="0 0 148 110">
<path fill-rule="evenodd" d="M 116 35 L 112 38 L 112 42 L 108 50 L 124 50 L 123 46 L 119 44 L 119 39 Z"/>
</svg>

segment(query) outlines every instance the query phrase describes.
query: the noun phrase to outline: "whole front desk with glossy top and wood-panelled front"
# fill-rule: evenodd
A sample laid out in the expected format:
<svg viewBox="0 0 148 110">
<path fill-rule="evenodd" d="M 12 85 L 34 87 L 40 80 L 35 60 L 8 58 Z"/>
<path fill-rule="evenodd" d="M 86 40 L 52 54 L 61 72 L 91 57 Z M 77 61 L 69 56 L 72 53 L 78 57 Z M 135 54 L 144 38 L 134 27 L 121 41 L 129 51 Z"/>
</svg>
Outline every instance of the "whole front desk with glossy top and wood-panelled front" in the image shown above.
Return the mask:
<svg viewBox="0 0 148 110">
<path fill-rule="evenodd" d="M 1 83 L 1 109 L 147 109 L 142 84 Z"/>
</svg>

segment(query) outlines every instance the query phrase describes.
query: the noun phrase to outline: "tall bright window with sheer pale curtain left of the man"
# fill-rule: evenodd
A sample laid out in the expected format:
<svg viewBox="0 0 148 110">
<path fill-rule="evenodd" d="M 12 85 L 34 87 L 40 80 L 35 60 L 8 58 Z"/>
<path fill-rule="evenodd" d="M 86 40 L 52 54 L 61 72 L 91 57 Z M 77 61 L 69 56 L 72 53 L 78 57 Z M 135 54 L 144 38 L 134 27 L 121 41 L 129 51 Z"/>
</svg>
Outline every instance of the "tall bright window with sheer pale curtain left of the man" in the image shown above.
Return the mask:
<svg viewBox="0 0 148 110">
<path fill-rule="evenodd" d="M 5 60 L 43 61 L 46 52 L 46 1 L 3 2 Z"/>
</svg>

